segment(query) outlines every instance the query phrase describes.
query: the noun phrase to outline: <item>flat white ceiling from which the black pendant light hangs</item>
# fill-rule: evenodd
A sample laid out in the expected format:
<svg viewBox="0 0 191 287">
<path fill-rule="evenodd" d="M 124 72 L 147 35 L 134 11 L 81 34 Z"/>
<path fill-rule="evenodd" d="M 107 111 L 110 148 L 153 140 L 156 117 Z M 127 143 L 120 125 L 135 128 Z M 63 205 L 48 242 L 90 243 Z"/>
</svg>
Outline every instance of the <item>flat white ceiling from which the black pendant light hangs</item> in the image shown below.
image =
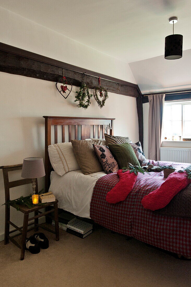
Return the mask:
<svg viewBox="0 0 191 287">
<path fill-rule="evenodd" d="M 164 54 L 178 16 L 175 34 L 183 50 L 191 48 L 191 1 L 186 0 L 0 0 L 0 6 L 125 62 Z"/>
</svg>

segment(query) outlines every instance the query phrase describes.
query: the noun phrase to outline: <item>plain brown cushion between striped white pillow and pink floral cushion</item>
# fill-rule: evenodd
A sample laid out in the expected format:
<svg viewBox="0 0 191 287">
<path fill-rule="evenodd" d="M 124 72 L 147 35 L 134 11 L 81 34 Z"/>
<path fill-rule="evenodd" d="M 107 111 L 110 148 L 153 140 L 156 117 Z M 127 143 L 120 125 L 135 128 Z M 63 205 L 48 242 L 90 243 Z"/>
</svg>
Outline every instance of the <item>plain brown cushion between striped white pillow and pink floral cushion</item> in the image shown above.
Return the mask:
<svg viewBox="0 0 191 287">
<path fill-rule="evenodd" d="M 103 171 L 102 165 L 94 152 L 93 144 L 101 144 L 100 139 L 78 141 L 71 139 L 74 154 L 84 174 Z"/>
</svg>

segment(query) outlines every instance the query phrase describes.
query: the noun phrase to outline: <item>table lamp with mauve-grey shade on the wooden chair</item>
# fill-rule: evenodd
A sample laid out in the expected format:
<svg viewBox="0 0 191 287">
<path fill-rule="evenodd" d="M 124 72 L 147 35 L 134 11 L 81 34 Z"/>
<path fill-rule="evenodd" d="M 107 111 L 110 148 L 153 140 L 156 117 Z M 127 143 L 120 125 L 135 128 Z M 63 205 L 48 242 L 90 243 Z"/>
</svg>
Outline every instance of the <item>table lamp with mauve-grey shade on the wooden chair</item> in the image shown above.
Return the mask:
<svg viewBox="0 0 191 287">
<path fill-rule="evenodd" d="M 32 194 L 35 194 L 36 178 L 44 176 L 43 158 L 24 158 L 21 177 L 32 179 Z"/>
</svg>

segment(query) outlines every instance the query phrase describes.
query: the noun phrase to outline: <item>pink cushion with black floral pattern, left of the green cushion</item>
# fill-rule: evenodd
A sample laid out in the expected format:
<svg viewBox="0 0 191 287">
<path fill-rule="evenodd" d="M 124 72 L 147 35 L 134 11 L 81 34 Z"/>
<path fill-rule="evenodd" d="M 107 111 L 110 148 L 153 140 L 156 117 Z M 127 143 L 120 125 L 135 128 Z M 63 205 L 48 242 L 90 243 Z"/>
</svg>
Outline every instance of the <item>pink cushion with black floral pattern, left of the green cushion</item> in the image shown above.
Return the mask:
<svg viewBox="0 0 191 287">
<path fill-rule="evenodd" d="M 119 167 L 107 146 L 93 144 L 94 151 L 101 162 L 105 173 L 117 172 Z"/>
</svg>

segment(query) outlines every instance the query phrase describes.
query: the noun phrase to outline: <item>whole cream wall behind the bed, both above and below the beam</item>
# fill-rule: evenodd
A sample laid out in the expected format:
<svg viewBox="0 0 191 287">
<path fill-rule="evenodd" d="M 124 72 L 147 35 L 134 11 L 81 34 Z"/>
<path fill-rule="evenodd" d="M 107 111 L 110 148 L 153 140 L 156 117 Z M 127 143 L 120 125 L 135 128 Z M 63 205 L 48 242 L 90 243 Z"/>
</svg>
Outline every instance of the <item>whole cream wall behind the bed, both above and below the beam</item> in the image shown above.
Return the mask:
<svg viewBox="0 0 191 287">
<path fill-rule="evenodd" d="M 0 7 L 0 42 L 40 55 L 57 59 L 128 82 L 136 83 L 128 63 L 112 58 L 53 30 L 45 28 Z M 22 163 L 30 156 L 44 157 L 45 131 L 43 115 L 116 118 L 114 134 L 129 136 L 138 141 L 136 99 L 108 93 L 105 107 L 100 109 L 95 100 L 85 111 L 74 103 L 73 87 L 65 100 L 56 90 L 55 83 L 0 73 L 0 166 Z M 92 92 L 92 91 L 91 91 Z M 128 115 L 128 116 L 127 116 Z M 129 123 L 131 119 L 131 124 Z M 10 180 L 20 177 L 20 171 L 10 172 Z M 39 190 L 44 179 L 39 179 Z M 31 187 L 13 189 L 12 198 L 28 195 Z M 4 233 L 5 202 L 3 174 L 0 170 L 0 241 Z M 22 216 L 13 210 L 11 219 L 20 226 Z"/>
</svg>

